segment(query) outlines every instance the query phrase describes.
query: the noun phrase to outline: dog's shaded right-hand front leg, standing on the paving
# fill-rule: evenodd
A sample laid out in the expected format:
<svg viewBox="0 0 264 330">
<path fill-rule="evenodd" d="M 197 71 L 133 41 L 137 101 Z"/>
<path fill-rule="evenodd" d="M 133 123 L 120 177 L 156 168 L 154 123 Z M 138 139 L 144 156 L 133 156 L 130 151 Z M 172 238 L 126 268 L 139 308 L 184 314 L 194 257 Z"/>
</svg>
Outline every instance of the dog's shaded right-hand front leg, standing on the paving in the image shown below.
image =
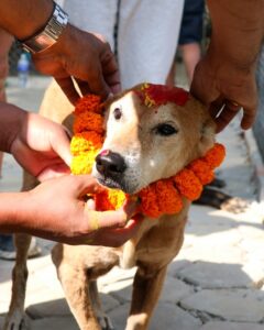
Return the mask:
<svg viewBox="0 0 264 330">
<path fill-rule="evenodd" d="M 140 266 L 133 283 L 133 296 L 125 330 L 147 329 L 153 309 L 160 297 L 167 266 L 153 270 Z"/>
</svg>

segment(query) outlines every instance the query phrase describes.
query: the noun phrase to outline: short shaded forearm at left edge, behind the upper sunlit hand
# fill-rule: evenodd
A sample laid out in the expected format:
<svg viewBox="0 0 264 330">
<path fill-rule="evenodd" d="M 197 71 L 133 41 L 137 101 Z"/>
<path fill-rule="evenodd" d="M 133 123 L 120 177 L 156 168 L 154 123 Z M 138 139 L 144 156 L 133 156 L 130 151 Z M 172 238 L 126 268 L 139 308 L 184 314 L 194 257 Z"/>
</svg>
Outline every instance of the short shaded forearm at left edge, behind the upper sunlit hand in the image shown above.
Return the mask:
<svg viewBox="0 0 264 330">
<path fill-rule="evenodd" d="M 9 103 L 0 102 L 0 151 L 10 153 L 12 142 L 25 122 L 28 112 Z"/>
</svg>

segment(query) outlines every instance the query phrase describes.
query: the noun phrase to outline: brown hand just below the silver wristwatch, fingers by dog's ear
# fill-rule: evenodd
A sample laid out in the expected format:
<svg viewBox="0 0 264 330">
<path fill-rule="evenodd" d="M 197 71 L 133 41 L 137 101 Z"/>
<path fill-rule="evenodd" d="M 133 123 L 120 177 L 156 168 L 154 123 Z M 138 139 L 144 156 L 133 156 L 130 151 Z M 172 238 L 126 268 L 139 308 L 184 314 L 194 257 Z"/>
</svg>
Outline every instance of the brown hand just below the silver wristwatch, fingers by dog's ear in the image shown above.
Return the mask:
<svg viewBox="0 0 264 330">
<path fill-rule="evenodd" d="M 84 32 L 68 24 L 57 43 L 34 54 L 35 67 L 52 75 L 69 101 L 75 105 L 80 92 L 92 92 L 106 99 L 110 92 L 120 91 L 120 77 L 114 55 L 99 34 Z"/>
</svg>

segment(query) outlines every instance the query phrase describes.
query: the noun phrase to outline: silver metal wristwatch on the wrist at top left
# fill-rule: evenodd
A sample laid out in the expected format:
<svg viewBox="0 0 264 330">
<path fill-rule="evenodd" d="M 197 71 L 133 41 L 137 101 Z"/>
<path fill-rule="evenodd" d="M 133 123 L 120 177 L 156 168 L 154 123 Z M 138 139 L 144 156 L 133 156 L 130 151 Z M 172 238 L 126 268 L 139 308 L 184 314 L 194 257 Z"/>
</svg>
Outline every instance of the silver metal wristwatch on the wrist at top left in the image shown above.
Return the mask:
<svg viewBox="0 0 264 330">
<path fill-rule="evenodd" d="M 55 44 L 68 23 L 67 13 L 54 3 L 54 11 L 47 24 L 35 35 L 20 41 L 24 50 L 30 53 L 38 53 Z"/>
</svg>

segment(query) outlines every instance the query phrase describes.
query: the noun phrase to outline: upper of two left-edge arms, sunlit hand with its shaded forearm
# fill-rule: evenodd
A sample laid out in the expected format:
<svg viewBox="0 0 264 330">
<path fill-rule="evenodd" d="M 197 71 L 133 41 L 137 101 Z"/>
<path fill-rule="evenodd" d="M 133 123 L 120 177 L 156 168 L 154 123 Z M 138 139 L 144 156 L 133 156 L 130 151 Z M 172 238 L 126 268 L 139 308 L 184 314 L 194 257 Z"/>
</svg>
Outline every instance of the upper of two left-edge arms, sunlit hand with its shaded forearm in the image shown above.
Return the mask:
<svg viewBox="0 0 264 330">
<path fill-rule="evenodd" d="M 65 127 L 40 114 L 0 102 L 0 150 L 44 180 L 69 173 L 72 154 Z"/>
</svg>

